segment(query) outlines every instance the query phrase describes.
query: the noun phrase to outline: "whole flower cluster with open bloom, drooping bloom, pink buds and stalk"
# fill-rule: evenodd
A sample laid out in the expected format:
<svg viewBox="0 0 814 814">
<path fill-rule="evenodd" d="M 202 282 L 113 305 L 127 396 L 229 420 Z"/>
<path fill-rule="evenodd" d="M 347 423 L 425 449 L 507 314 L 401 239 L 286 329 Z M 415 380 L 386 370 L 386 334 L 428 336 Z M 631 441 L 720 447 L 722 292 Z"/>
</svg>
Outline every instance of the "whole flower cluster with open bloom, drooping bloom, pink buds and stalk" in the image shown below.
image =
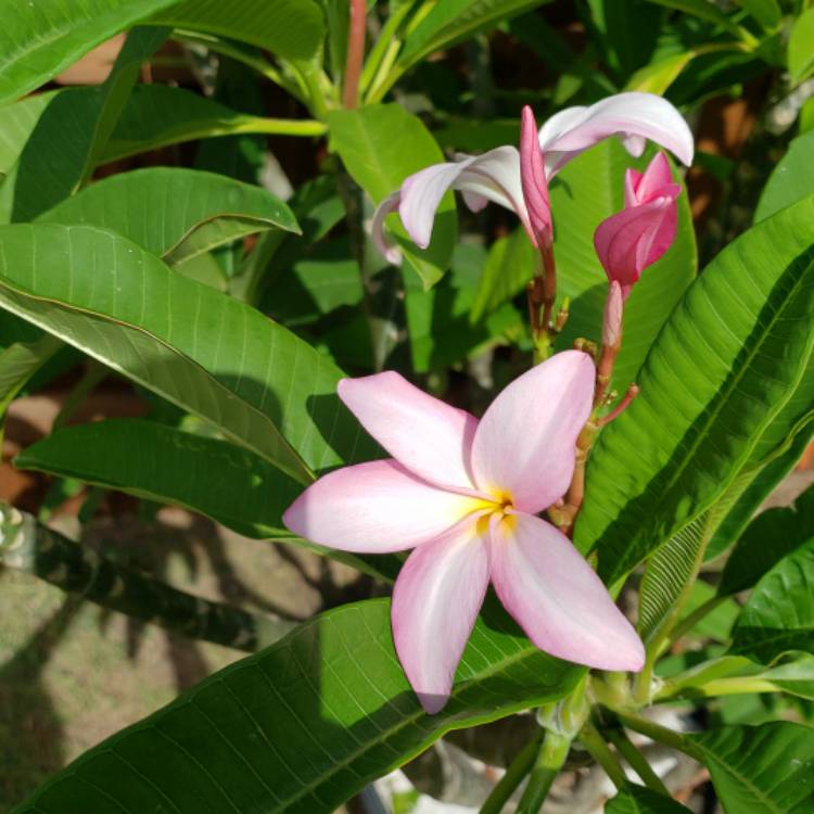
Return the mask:
<svg viewBox="0 0 814 814">
<path fill-rule="evenodd" d="M 539 130 L 522 114 L 520 149 L 427 167 L 385 199 L 373 239 L 391 262 L 398 252 L 384 236 L 398 214 L 412 240 L 427 246 L 435 212 L 449 189 L 480 209 L 493 201 L 520 217 L 546 271 L 546 318 L 554 302 L 554 220 L 548 182 L 569 161 L 609 136 L 640 155 L 646 140 L 692 160 L 692 137 L 678 112 L 649 93 L 621 93 L 590 107 L 571 107 Z M 658 153 L 644 173 L 628 170 L 625 206 L 596 230 L 595 246 L 609 279 L 602 352 L 559 353 L 519 377 L 480 421 L 418 390 L 398 373 L 343 379 L 339 395 L 392 456 L 345 467 L 309 486 L 284 516 L 294 533 L 356 552 L 415 549 L 393 592 L 398 658 L 428 713 L 451 690 L 489 583 L 540 649 L 592 667 L 638 671 L 644 647 L 588 563 L 560 529 L 574 511 L 563 496 L 576 478 L 586 422 L 607 402 L 606 389 L 622 340 L 624 301 L 641 271 L 676 233 L 681 186 Z M 550 285 L 549 285 L 550 282 Z M 635 385 L 613 415 L 636 393 Z M 585 449 L 581 466 L 584 466 Z M 559 507 L 559 508 L 558 508 Z M 578 504 L 574 510 L 578 510 Z M 556 527 L 539 514 L 568 516 Z"/>
</svg>

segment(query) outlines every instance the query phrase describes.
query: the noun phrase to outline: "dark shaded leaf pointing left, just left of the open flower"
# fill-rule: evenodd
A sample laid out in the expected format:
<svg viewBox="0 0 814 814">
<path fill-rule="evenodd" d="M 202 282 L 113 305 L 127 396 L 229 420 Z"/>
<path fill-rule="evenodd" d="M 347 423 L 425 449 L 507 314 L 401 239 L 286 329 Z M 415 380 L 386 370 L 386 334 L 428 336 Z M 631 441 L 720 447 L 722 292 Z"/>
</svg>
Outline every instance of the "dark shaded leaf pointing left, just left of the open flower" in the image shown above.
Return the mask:
<svg viewBox="0 0 814 814">
<path fill-rule="evenodd" d="M 258 538 L 290 534 L 282 512 L 302 491 L 244 447 L 139 419 L 66 427 L 14 466 L 185 506 Z"/>
</svg>

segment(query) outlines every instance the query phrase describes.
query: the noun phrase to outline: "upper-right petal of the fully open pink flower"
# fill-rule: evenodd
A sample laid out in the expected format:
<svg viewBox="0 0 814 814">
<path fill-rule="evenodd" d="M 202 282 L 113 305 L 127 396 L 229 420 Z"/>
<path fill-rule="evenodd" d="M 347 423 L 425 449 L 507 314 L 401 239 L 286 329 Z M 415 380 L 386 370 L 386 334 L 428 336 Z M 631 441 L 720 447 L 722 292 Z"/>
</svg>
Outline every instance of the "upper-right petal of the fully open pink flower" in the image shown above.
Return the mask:
<svg viewBox="0 0 814 814">
<path fill-rule="evenodd" d="M 479 488 L 536 513 L 562 497 L 576 437 L 590 415 L 594 364 L 564 351 L 516 379 L 489 405 L 472 443 Z"/>
</svg>

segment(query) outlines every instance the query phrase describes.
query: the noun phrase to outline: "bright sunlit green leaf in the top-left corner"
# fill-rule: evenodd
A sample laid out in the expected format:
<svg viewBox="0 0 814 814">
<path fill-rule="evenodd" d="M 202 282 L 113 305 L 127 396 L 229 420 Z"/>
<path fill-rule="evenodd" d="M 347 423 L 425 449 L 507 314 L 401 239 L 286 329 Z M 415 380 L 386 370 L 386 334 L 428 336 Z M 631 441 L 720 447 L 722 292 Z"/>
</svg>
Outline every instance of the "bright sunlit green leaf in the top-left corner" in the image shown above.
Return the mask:
<svg viewBox="0 0 814 814">
<path fill-rule="evenodd" d="M 177 0 L 0 0 L 0 102 L 35 90 L 91 48 Z"/>
</svg>

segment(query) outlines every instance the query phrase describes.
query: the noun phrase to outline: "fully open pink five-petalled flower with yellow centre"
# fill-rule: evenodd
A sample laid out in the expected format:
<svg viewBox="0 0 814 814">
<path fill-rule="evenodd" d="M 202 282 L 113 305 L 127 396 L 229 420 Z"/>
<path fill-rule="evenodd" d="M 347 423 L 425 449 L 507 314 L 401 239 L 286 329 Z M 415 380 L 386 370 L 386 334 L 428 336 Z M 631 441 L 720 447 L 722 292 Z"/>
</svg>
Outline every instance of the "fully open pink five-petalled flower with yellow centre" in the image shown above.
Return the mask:
<svg viewBox="0 0 814 814">
<path fill-rule="evenodd" d="M 320 478 L 283 521 L 345 551 L 415 548 L 393 592 L 393 637 L 430 714 L 449 697 L 489 581 L 546 652 L 602 670 L 641 669 L 641 641 L 605 585 L 537 517 L 571 481 L 594 378 L 586 354 L 557 354 L 506 387 L 480 421 L 395 372 L 339 384 L 393 458 Z"/>
</svg>

